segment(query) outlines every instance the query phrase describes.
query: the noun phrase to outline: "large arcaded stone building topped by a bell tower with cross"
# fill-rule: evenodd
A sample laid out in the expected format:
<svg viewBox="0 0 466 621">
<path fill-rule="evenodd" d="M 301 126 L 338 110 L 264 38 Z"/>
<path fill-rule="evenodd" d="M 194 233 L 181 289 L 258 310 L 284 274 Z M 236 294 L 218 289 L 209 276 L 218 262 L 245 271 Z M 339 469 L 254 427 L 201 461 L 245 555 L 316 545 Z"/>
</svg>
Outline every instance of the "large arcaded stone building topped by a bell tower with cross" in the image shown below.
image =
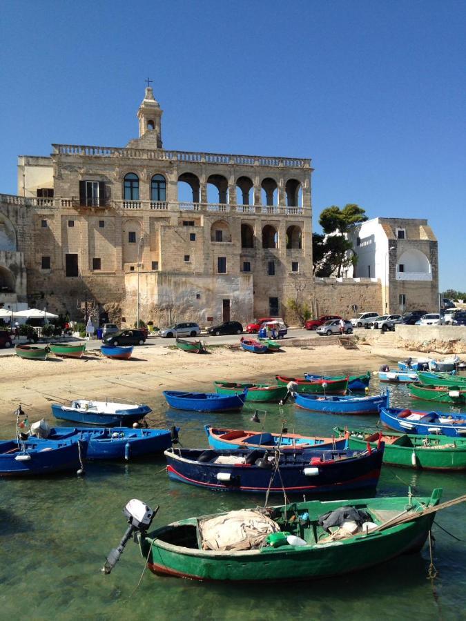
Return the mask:
<svg viewBox="0 0 466 621">
<path fill-rule="evenodd" d="M 19 157 L 18 196 L 0 197 L 3 295 L 72 316 L 94 299 L 127 324 L 138 301 L 146 321 L 284 314 L 312 284 L 311 161 L 166 150 L 152 88 L 137 119 L 124 148 Z"/>
</svg>

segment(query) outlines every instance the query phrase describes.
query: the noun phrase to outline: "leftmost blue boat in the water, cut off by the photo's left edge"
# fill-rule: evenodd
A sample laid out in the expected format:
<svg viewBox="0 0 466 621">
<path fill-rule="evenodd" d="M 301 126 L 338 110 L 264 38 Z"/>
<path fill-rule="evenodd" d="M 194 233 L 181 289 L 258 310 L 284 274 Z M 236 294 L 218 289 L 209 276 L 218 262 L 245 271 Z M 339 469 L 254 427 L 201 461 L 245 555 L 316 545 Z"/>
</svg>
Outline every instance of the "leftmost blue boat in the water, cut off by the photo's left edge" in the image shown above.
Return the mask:
<svg viewBox="0 0 466 621">
<path fill-rule="evenodd" d="M 79 470 L 86 458 L 88 443 L 74 439 L 5 440 L 0 442 L 0 476 L 48 475 Z"/>
</svg>

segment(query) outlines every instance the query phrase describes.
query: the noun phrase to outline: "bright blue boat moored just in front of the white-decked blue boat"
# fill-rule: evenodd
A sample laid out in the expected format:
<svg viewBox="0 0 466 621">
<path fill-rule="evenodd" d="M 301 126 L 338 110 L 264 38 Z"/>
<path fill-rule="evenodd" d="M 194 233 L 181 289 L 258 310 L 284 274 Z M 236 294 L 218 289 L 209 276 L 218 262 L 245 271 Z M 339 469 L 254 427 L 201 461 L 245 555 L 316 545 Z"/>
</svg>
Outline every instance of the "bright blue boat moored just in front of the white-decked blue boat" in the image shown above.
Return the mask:
<svg viewBox="0 0 466 621">
<path fill-rule="evenodd" d="M 88 442 L 88 460 L 131 460 L 162 453 L 171 446 L 171 434 L 169 429 L 55 427 L 41 442 L 81 440 Z"/>
</svg>

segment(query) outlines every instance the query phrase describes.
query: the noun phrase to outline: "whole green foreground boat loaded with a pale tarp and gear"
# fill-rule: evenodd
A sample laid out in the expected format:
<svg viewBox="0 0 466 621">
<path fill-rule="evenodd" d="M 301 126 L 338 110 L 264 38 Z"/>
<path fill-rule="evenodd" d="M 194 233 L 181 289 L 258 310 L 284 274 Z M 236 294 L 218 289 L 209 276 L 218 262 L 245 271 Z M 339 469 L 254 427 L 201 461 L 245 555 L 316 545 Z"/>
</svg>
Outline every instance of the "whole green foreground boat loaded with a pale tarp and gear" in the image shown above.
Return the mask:
<svg viewBox="0 0 466 621">
<path fill-rule="evenodd" d="M 254 513 L 256 520 L 262 516 L 254 542 L 245 540 L 240 529 L 237 538 L 232 534 L 232 525 L 242 523 L 243 512 L 190 517 L 162 526 L 150 535 L 140 532 L 139 548 L 148 568 L 159 575 L 231 582 L 329 578 L 419 551 L 431 529 L 441 494 L 441 489 L 435 489 L 431 497 L 423 498 L 409 495 L 314 500 L 270 507 L 266 512 L 273 522 L 267 525 L 263 509 L 250 509 L 246 514 Z M 371 526 L 353 534 L 341 529 L 333 532 L 336 527 L 324 530 L 319 517 L 343 506 L 367 511 Z M 208 526 L 213 526 L 208 520 L 215 517 L 223 523 L 218 531 L 226 531 L 229 549 L 222 542 L 219 546 L 219 539 L 208 537 Z"/>
</svg>

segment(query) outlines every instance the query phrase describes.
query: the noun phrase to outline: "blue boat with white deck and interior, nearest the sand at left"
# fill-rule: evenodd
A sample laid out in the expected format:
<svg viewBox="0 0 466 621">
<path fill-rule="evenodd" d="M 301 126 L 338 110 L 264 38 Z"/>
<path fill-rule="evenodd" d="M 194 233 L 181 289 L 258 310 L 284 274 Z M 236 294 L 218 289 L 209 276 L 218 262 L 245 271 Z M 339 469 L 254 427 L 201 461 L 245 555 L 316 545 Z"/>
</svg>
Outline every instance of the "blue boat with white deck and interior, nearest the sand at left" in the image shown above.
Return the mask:
<svg viewBox="0 0 466 621">
<path fill-rule="evenodd" d="M 52 404 L 52 414 L 55 418 L 101 427 L 129 426 L 151 411 L 151 408 L 144 404 L 117 403 L 110 400 L 77 399 L 69 406 Z"/>
</svg>

